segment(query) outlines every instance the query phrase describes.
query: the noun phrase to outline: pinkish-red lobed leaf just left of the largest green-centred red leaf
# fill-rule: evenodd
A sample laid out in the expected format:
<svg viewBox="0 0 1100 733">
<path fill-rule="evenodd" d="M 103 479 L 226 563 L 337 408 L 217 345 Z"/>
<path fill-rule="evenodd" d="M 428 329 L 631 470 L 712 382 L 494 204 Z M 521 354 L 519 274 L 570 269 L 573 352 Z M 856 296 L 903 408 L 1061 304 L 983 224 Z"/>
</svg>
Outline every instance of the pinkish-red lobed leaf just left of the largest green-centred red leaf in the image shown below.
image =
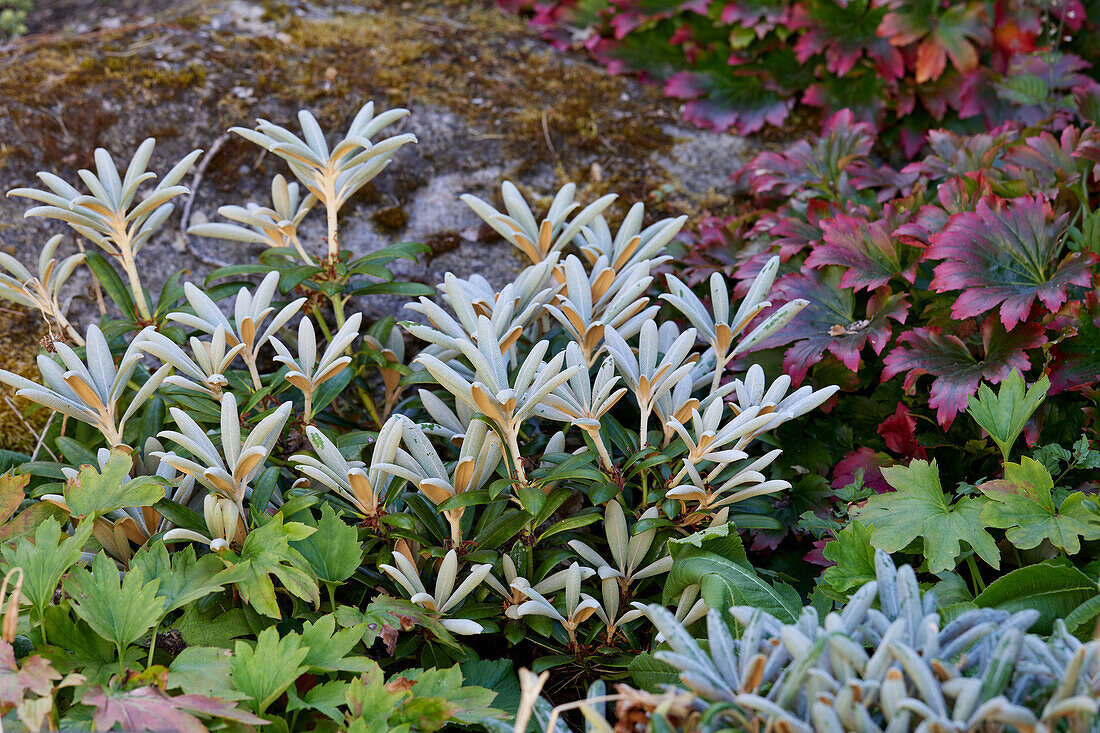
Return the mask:
<svg viewBox="0 0 1100 733">
<path fill-rule="evenodd" d="M 882 218 L 876 221 L 843 214 L 823 221 L 824 242 L 813 249 L 806 264 L 847 267 L 840 287 L 856 292 L 878 289 L 897 275 L 912 283 L 916 280 L 920 250 L 893 237 L 902 216 L 887 205 Z"/>
</svg>

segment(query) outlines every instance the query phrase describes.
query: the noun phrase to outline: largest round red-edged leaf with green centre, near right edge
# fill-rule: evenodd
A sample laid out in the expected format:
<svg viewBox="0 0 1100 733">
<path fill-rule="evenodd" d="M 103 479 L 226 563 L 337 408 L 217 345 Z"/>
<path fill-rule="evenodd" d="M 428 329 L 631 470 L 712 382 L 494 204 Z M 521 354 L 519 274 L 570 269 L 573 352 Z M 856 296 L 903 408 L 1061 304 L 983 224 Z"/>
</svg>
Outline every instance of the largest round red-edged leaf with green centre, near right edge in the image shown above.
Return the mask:
<svg viewBox="0 0 1100 733">
<path fill-rule="evenodd" d="M 1062 258 L 1067 218 L 1055 217 L 1042 197 L 978 201 L 976 211 L 956 214 L 932 238 L 925 256 L 943 262 L 931 287 L 937 293 L 964 291 L 952 306 L 956 318 L 1000 307 L 1007 329 L 1027 318 L 1036 298 L 1057 310 L 1070 285 L 1087 287 L 1092 282 L 1092 255 L 1074 252 Z"/>
</svg>

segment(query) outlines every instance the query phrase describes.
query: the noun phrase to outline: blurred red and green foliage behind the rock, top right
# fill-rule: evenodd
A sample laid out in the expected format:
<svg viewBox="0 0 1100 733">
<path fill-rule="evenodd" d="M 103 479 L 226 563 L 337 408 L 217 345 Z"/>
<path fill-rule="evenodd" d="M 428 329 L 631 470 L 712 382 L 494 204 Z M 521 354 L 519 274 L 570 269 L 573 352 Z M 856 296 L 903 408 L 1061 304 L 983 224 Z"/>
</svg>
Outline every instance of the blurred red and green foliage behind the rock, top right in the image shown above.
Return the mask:
<svg viewBox="0 0 1100 733">
<path fill-rule="evenodd" d="M 851 110 L 912 154 L 928 128 L 975 131 L 1094 106 L 1094 3 L 498 0 L 554 45 L 583 47 L 685 100 L 702 127 L 783 127 Z M 1097 121 L 1097 118 L 1093 118 Z"/>
</svg>

